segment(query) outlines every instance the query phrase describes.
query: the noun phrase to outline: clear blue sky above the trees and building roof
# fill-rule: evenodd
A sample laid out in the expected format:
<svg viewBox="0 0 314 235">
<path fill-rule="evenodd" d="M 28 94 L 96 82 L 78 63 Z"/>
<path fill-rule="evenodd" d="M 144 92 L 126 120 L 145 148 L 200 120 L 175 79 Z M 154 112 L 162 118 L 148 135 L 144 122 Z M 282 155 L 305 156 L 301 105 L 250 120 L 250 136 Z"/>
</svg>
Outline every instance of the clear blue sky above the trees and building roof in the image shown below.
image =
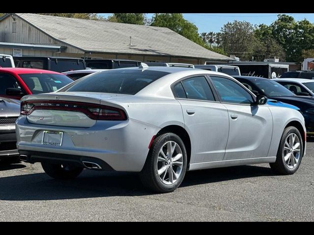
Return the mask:
<svg viewBox="0 0 314 235">
<path fill-rule="evenodd" d="M 99 13 L 105 17 L 111 13 Z M 271 24 L 280 13 L 183 13 L 185 20 L 195 24 L 201 32 L 219 32 L 224 24 L 232 21 L 247 21 L 251 24 Z M 314 23 L 314 13 L 285 13 L 292 16 L 296 21 L 306 18 Z M 148 13 L 151 18 L 154 14 Z"/>
</svg>

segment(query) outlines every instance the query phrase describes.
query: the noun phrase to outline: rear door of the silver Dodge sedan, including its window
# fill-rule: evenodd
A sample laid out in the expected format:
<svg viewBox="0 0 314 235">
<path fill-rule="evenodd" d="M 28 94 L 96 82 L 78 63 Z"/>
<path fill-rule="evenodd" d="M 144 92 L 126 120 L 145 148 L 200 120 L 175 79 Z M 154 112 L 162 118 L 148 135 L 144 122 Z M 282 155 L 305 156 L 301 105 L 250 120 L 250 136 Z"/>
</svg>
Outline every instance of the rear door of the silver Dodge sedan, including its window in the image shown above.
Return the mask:
<svg viewBox="0 0 314 235">
<path fill-rule="evenodd" d="M 209 86 L 205 75 L 182 79 L 172 85 L 182 105 L 185 129 L 191 140 L 190 163 L 221 161 L 229 132 L 228 111 Z"/>
</svg>

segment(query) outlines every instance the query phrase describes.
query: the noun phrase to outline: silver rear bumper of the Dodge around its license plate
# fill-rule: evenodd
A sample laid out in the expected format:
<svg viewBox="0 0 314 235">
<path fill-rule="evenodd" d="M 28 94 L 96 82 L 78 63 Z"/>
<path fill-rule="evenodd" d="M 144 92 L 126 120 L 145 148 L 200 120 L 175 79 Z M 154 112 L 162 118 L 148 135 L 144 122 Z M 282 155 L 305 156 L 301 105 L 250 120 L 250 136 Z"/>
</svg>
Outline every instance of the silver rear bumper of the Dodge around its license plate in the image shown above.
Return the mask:
<svg viewBox="0 0 314 235">
<path fill-rule="evenodd" d="M 45 130 L 63 132 L 61 146 L 42 144 Z M 99 161 L 96 164 L 104 165 L 104 169 L 108 164 L 116 171 L 133 172 L 142 170 L 149 143 L 159 130 L 133 119 L 97 121 L 86 128 L 38 125 L 29 123 L 23 116 L 16 123 L 18 150 L 29 162 L 70 161 L 81 166 L 85 158 L 92 158 Z"/>
</svg>

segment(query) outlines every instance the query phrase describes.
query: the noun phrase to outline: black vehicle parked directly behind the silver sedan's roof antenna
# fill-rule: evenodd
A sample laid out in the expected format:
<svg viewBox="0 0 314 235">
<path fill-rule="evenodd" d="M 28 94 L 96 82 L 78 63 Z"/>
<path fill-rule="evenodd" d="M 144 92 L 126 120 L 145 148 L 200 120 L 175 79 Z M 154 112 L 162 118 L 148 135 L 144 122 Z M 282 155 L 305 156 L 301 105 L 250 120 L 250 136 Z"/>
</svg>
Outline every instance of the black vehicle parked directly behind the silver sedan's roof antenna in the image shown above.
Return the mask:
<svg viewBox="0 0 314 235">
<path fill-rule="evenodd" d="M 128 67 L 138 67 L 141 62 L 136 60 L 122 60 L 122 59 L 85 59 L 86 67 L 92 70 L 111 70 Z"/>
</svg>

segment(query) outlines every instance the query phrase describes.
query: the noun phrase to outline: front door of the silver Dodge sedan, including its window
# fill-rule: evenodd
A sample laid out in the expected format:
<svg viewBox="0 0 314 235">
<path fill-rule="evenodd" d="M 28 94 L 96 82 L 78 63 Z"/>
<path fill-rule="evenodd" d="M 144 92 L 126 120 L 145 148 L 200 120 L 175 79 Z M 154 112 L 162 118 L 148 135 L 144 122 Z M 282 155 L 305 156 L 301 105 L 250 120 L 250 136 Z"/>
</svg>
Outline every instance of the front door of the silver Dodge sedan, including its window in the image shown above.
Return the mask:
<svg viewBox="0 0 314 235">
<path fill-rule="evenodd" d="M 267 157 L 273 131 L 267 105 L 255 105 L 244 86 L 223 76 L 210 76 L 229 115 L 229 137 L 224 160 Z"/>
</svg>

